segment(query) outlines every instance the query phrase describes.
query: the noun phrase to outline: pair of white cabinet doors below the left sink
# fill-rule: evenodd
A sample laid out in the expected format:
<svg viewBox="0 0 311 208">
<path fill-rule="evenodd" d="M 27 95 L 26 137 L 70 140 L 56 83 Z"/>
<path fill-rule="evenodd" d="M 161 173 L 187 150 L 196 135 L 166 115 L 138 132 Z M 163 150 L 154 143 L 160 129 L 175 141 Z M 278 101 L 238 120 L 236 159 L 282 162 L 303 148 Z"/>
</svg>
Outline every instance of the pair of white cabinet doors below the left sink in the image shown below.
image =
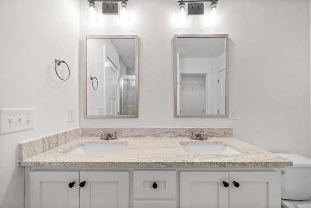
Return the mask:
<svg viewBox="0 0 311 208">
<path fill-rule="evenodd" d="M 127 171 L 30 172 L 30 208 L 128 207 Z"/>
</svg>

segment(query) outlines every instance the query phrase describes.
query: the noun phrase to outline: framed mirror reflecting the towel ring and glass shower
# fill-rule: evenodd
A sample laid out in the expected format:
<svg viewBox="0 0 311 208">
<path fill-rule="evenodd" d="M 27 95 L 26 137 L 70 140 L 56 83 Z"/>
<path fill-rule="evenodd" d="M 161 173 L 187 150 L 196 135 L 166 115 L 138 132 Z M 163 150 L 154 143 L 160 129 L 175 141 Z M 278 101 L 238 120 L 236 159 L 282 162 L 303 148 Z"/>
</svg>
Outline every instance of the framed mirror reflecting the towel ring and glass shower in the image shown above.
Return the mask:
<svg viewBox="0 0 311 208">
<path fill-rule="evenodd" d="M 84 118 L 138 118 L 138 36 L 85 35 Z"/>
</svg>

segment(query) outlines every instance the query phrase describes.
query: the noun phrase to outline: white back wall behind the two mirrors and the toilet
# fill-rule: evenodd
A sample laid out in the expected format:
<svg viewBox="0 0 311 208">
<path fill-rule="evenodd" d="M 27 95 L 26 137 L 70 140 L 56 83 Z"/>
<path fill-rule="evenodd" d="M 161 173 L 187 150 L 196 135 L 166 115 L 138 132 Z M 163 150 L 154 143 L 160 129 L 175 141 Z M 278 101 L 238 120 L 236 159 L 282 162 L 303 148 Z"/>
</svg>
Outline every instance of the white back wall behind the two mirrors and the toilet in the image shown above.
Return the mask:
<svg viewBox="0 0 311 208">
<path fill-rule="evenodd" d="M 214 27 L 205 16 L 178 25 L 176 0 L 131 0 L 128 24 L 113 15 L 89 23 L 86 2 L 80 3 L 80 36 L 139 36 L 138 119 L 84 119 L 80 107 L 81 126 L 233 127 L 235 138 L 266 150 L 311 155 L 310 0 L 219 0 Z M 229 34 L 229 106 L 237 107 L 236 120 L 173 117 L 174 34 Z M 80 59 L 80 72 L 82 66 Z"/>
</svg>

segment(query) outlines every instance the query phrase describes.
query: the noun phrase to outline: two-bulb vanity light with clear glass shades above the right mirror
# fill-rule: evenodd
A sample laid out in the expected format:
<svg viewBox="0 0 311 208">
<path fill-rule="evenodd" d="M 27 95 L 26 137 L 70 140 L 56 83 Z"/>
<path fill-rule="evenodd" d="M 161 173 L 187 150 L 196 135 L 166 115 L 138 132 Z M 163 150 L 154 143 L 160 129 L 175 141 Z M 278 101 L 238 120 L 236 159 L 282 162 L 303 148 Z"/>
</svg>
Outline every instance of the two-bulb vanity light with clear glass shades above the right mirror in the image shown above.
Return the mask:
<svg viewBox="0 0 311 208">
<path fill-rule="evenodd" d="M 188 15 L 204 15 L 204 2 L 211 2 L 207 22 L 214 23 L 218 17 L 218 0 L 178 0 L 177 2 L 179 3 L 178 23 L 185 23 Z M 185 3 L 188 3 L 188 6 Z"/>
</svg>

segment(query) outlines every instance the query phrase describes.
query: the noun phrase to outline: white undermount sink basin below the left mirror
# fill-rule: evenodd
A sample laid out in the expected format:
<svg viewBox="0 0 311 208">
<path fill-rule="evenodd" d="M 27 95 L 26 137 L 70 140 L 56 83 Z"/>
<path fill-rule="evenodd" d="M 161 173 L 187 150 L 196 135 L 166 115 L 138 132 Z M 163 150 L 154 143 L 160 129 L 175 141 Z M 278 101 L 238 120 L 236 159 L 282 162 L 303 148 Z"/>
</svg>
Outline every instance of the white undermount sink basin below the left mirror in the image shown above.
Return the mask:
<svg viewBox="0 0 311 208">
<path fill-rule="evenodd" d="M 66 154 L 118 154 L 127 144 L 81 144 Z"/>
</svg>

